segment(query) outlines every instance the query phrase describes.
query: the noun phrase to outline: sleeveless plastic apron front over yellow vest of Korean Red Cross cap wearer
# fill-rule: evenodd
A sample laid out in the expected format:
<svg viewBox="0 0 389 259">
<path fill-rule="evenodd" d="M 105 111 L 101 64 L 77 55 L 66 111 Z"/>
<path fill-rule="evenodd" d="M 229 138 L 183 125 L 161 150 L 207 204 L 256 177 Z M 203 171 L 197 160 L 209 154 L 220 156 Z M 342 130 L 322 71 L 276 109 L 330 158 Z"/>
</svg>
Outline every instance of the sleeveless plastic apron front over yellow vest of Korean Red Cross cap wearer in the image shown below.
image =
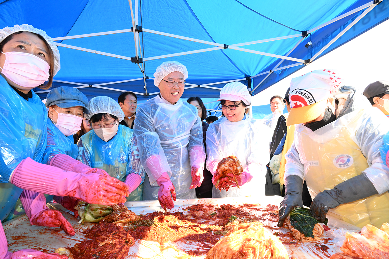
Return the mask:
<svg viewBox="0 0 389 259">
<path fill-rule="evenodd" d="M 354 141 L 361 113 L 363 110 L 346 114 L 314 132 L 301 127 L 299 152 L 301 163 L 305 165 L 305 180 L 312 199 L 321 191 L 333 189 L 369 167 Z M 380 228 L 382 223 L 389 222 L 388 205 L 389 194 L 386 192 L 339 205 L 330 211 L 338 219 L 360 228 L 366 224 Z"/>
</svg>

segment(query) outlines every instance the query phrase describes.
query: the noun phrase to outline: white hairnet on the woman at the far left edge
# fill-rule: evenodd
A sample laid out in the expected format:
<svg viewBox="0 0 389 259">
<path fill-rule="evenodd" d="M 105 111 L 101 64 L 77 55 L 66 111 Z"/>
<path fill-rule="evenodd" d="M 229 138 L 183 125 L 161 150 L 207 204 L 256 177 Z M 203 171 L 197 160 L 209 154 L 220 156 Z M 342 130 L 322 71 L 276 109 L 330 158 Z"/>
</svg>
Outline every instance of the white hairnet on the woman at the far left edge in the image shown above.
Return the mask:
<svg viewBox="0 0 389 259">
<path fill-rule="evenodd" d="M 5 27 L 4 29 L 0 29 L 0 42 L 2 42 L 7 36 L 11 35 L 15 32 L 32 32 L 36 33 L 40 36 L 42 36 L 46 42 L 51 47 L 51 50 L 53 50 L 54 53 L 54 75 L 60 70 L 61 63 L 60 63 L 60 52 L 58 51 L 57 46 L 54 44 L 54 41 L 46 34 L 46 32 L 39 30 L 37 28 L 34 28 L 32 25 L 22 24 L 22 25 L 15 25 L 14 27 Z M 52 75 L 52 76 L 54 76 Z"/>
</svg>

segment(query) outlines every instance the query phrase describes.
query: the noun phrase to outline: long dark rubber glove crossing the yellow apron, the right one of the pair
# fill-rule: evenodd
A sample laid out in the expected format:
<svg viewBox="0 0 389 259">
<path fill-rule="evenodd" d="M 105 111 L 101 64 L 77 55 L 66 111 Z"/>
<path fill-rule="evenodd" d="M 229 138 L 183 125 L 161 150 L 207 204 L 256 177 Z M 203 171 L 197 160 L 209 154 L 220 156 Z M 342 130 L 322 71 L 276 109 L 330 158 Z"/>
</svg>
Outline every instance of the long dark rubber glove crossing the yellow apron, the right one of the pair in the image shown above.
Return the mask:
<svg viewBox="0 0 389 259">
<path fill-rule="evenodd" d="M 309 211 L 323 223 L 329 209 L 336 208 L 343 203 L 361 200 L 378 194 L 377 190 L 364 174 L 346 180 L 329 191 L 318 193 Z"/>
</svg>

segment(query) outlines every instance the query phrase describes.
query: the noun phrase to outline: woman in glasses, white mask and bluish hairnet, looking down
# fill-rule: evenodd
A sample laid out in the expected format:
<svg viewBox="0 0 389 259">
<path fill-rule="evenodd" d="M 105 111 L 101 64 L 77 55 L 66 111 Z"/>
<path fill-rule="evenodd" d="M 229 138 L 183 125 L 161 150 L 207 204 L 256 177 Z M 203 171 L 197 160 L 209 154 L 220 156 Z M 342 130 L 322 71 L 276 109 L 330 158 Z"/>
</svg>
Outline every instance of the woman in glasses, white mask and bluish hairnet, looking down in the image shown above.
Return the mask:
<svg viewBox="0 0 389 259">
<path fill-rule="evenodd" d="M 108 96 L 97 96 L 89 101 L 88 110 L 93 130 L 77 142 L 77 159 L 124 182 L 130 191 L 127 201 L 143 200 L 145 170 L 133 130 L 119 125 L 124 119 L 120 105 Z"/>
</svg>

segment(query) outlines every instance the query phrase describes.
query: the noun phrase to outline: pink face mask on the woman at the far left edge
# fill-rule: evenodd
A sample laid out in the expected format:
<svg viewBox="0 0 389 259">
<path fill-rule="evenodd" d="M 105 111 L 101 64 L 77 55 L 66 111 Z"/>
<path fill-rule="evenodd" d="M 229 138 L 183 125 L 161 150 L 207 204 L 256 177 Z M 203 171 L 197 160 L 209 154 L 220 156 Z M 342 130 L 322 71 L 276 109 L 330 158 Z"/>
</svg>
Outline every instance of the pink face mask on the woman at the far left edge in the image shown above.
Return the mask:
<svg viewBox="0 0 389 259">
<path fill-rule="evenodd" d="M 2 74 L 19 86 L 34 88 L 49 79 L 49 64 L 29 53 L 17 51 L 2 52 L 5 54 Z"/>
</svg>

